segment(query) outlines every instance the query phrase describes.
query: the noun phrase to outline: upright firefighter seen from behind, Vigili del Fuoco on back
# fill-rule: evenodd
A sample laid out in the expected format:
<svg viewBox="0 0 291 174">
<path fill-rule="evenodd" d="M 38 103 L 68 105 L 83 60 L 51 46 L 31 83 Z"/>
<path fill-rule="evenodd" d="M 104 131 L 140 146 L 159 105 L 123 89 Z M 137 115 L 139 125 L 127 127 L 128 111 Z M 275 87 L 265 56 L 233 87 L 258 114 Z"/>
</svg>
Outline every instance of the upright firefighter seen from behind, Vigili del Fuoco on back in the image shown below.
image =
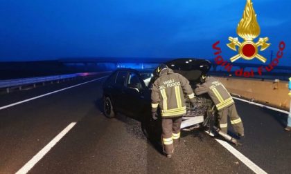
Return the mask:
<svg viewBox="0 0 291 174">
<path fill-rule="evenodd" d="M 161 111 L 161 140 L 164 153 L 172 157 L 174 146 L 179 144 L 182 116 L 186 114 L 184 94 L 194 103 L 194 93 L 189 81 L 174 73 L 166 65 L 157 67 L 158 78 L 152 85 L 152 117 L 155 119 L 157 108 Z"/>
</svg>

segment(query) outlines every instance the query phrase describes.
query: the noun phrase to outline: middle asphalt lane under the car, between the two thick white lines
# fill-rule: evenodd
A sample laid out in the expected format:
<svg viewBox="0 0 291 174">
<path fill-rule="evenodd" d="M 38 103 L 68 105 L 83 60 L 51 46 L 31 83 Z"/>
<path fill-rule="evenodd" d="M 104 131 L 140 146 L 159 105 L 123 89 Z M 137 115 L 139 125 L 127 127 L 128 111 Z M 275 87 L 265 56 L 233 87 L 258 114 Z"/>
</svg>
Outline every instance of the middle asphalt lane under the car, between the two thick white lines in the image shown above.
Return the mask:
<svg viewBox="0 0 291 174">
<path fill-rule="evenodd" d="M 148 142 L 140 123 L 88 113 L 31 173 L 250 173 L 204 134 L 188 135 L 168 160 Z"/>
</svg>

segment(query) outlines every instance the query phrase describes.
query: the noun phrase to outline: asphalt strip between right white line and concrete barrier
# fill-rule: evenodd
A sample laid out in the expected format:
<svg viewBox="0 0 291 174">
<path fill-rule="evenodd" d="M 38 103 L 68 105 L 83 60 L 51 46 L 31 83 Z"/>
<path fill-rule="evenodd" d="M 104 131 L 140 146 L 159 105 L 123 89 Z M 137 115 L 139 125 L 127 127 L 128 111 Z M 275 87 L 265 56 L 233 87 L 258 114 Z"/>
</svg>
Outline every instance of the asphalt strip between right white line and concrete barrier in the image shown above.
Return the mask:
<svg viewBox="0 0 291 174">
<path fill-rule="evenodd" d="M 245 124 L 244 146 L 238 151 L 268 173 L 290 173 L 291 132 L 283 130 L 288 115 L 236 101 Z"/>
</svg>

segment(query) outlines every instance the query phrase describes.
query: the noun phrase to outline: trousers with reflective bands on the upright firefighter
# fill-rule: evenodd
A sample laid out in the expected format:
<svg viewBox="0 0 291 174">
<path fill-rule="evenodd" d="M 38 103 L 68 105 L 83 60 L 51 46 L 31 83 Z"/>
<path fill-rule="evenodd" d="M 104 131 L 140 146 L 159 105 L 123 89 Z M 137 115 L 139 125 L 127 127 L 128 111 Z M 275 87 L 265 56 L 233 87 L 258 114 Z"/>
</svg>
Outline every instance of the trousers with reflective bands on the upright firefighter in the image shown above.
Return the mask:
<svg viewBox="0 0 291 174">
<path fill-rule="evenodd" d="M 172 154 L 174 146 L 179 144 L 182 117 L 161 119 L 161 140 L 164 153 Z"/>
</svg>

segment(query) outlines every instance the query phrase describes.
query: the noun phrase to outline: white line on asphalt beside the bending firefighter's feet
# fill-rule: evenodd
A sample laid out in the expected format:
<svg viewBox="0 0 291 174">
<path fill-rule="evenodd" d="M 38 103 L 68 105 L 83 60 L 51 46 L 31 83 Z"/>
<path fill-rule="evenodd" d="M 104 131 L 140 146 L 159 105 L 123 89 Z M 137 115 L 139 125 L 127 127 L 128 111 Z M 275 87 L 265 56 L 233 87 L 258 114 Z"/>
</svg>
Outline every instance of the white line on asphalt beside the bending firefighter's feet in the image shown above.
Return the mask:
<svg viewBox="0 0 291 174">
<path fill-rule="evenodd" d="M 230 153 L 232 153 L 235 157 L 238 158 L 241 162 L 243 162 L 246 166 L 248 166 L 254 173 L 266 173 L 262 168 L 254 164 L 249 158 L 245 157 L 242 153 L 240 153 L 236 148 L 233 148 L 233 146 L 229 145 L 227 142 L 224 142 L 220 139 L 215 139 L 218 143 L 220 143 L 224 148 L 227 149 Z"/>
</svg>

